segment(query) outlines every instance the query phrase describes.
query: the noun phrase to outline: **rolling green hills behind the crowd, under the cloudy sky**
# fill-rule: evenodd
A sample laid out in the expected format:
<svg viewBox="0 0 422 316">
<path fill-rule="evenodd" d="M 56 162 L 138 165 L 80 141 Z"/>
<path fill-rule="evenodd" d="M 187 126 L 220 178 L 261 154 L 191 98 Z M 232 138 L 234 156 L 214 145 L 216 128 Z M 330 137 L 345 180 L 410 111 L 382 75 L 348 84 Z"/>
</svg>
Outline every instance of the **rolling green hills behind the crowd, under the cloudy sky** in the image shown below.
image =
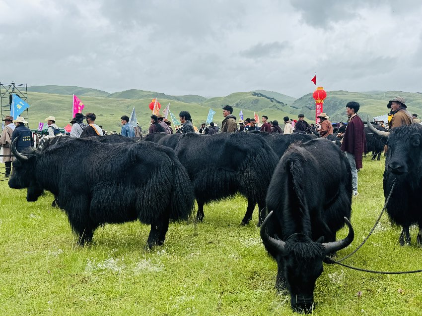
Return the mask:
<svg viewBox="0 0 422 316">
<path fill-rule="evenodd" d="M 188 110 L 192 115 L 194 125 L 197 126 L 205 121 L 210 107 L 216 111 L 214 121 L 220 124 L 223 119 L 221 108 L 224 105 L 232 105 L 233 114 L 236 116 L 243 109 L 244 118 L 253 117 L 254 112 L 257 112 L 260 116 L 267 115 L 270 120 L 278 120 L 280 124 L 282 124 L 284 116 L 297 118 L 299 113 L 303 113 L 310 122 L 315 120 L 315 101 L 312 98 L 312 93 L 295 99 L 278 92 L 254 90 L 207 99 L 196 95 L 171 96 L 137 89 L 109 93 L 92 88 L 72 86 L 32 86 L 28 87 L 28 103 L 31 105 L 30 123 L 35 126 L 38 125 L 38 121 L 43 121 L 45 117 L 54 115 L 57 117 L 59 126 L 67 125 L 71 116 L 70 96 L 72 94 L 77 95 L 85 104 L 84 112 L 94 112 L 98 116 L 98 123 L 101 123 L 107 130 L 119 130 L 120 117 L 130 115 L 134 106 L 140 125 L 147 128 L 151 115 L 148 104 L 155 97 L 161 103 L 162 109 L 170 103 L 170 110 L 176 116 L 181 110 Z M 324 111 L 333 122 L 345 121 L 347 119 L 346 104 L 349 101 L 357 101 L 361 106 L 359 114 L 362 118 L 366 117 L 366 113 L 370 116 L 382 115 L 388 112 L 386 107 L 388 100 L 397 95 L 406 99 L 408 109 L 412 113 L 422 115 L 422 94 L 401 91 L 363 93 L 328 91 L 327 99 L 324 101 Z M 240 118 L 238 117 L 238 119 Z"/>
</svg>

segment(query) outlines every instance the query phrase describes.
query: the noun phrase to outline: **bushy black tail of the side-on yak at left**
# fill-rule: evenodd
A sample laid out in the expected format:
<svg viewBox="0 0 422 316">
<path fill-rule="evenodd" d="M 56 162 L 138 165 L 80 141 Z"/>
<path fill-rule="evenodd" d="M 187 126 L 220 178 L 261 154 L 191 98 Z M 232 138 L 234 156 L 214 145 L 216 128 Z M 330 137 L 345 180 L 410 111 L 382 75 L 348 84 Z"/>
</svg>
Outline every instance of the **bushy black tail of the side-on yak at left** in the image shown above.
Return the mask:
<svg viewBox="0 0 422 316">
<path fill-rule="evenodd" d="M 185 167 L 174 155 L 171 159 L 173 190 L 170 197 L 170 220 L 187 220 L 194 211 L 194 189 Z"/>
</svg>

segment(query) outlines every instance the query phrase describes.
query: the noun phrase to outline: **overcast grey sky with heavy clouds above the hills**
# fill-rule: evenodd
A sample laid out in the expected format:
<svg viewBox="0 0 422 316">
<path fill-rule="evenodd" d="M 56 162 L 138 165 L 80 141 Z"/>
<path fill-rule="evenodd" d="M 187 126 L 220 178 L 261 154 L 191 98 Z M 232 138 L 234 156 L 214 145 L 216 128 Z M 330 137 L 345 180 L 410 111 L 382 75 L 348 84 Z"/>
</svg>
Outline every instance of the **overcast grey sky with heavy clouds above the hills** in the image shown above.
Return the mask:
<svg viewBox="0 0 422 316">
<path fill-rule="evenodd" d="M 348 4 L 350 2 L 350 4 Z M 0 81 L 225 96 L 422 92 L 422 1 L 3 1 Z"/>
</svg>

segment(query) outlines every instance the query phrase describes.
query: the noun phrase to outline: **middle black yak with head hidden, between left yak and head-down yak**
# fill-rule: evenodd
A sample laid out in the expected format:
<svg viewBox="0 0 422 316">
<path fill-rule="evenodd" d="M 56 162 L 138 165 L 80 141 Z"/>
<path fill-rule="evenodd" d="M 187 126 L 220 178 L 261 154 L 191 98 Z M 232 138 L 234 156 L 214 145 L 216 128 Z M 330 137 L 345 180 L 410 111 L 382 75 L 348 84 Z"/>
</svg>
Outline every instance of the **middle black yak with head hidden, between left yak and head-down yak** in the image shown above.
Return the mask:
<svg viewBox="0 0 422 316">
<path fill-rule="evenodd" d="M 261 136 L 188 133 L 179 137 L 175 152 L 194 186 L 197 220 L 204 219 L 206 203 L 232 197 L 236 192 L 248 199 L 242 224 L 252 219 L 256 204 L 260 211 L 265 208 L 267 188 L 279 158 Z"/>
</svg>

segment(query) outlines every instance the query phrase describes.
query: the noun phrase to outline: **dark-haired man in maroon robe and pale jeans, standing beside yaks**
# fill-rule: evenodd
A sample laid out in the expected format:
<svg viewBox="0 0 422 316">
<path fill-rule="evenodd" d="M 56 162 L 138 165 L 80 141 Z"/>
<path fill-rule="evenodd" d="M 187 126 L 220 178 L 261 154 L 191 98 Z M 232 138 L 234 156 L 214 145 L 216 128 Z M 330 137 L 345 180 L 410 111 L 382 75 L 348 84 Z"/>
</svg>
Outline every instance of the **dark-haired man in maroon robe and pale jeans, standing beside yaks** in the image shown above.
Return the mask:
<svg viewBox="0 0 422 316">
<path fill-rule="evenodd" d="M 360 105 L 357 102 L 349 102 L 346 105 L 346 113 L 349 117 L 346 132 L 339 133 L 337 137 L 343 137 L 342 152 L 345 152 L 352 169 L 352 195 L 357 196 L 357 170 L 362 168 L 362 155 L 366 151 L 366 137 L 363 122 L 357 111 Z M 370 123 L 369 123 L 370 124 Z"/>
</svg>

